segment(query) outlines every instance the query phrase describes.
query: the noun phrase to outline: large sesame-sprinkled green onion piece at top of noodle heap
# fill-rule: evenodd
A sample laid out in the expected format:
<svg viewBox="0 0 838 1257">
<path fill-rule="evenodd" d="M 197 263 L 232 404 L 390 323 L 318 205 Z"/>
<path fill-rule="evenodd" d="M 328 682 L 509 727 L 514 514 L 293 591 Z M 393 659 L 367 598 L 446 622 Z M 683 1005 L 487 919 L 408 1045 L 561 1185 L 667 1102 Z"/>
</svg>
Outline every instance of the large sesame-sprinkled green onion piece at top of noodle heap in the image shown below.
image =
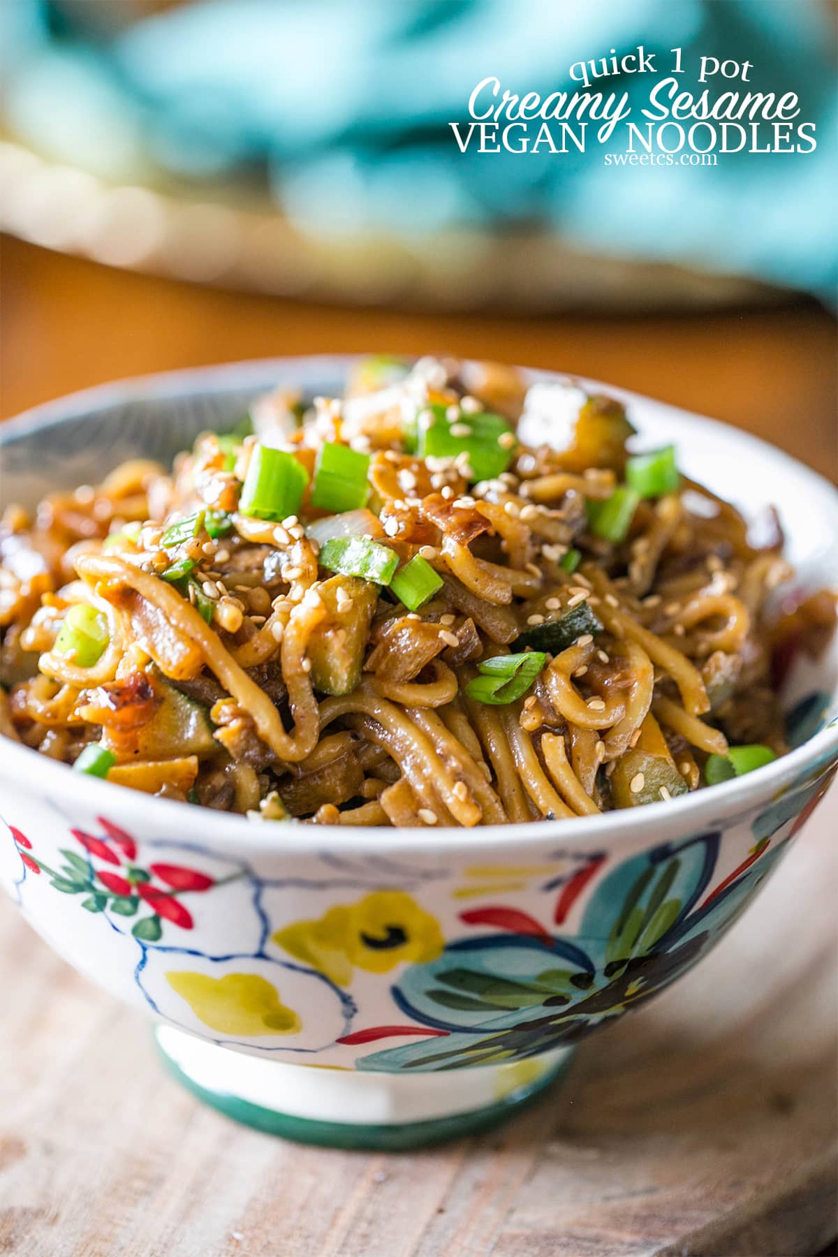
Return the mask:
<svg viewBox="0 0 838 1257">
<path fill-rule="evenodd" d="M 467 454 L 467 478 L 494 480 L 515 456 L 518 441 L 511 424 L 487 410 L 449 419 L 450 409 L 440 402 L 423 406 L 405 434 L 405 447 L 408 451 L 412 447 L 421 459 L 456 459 Z"/>
</svg>

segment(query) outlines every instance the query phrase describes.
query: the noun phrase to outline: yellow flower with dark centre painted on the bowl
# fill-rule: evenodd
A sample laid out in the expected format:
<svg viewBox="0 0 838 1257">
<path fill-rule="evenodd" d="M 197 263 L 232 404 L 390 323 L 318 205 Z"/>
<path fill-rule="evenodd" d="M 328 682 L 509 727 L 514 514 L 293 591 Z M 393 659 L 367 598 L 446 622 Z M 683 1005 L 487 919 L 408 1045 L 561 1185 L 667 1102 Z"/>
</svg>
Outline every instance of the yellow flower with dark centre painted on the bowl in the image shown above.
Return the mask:
<svg viewBox="0 0 838 1257">
<path fill-rule="evenodd" d="M 403 960 L 436 960 L 445 947 L 436 919 L 401 890 L 377 890 L 319 920 L 285 925 L 274 943 L 338 985 L 352 980 L 354 967 L 388 973 Z"/>
</svg>

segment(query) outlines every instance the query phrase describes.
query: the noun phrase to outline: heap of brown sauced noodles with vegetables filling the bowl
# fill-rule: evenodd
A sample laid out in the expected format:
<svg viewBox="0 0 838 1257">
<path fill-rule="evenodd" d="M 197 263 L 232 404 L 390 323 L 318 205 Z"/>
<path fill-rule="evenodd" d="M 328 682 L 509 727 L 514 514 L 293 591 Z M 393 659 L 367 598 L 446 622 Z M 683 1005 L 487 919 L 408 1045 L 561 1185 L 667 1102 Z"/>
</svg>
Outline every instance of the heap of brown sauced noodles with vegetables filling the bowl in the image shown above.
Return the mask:
<svg viewBox="0 0 838 1257">
<path fill-rule="evenodd" d="M 258 436 L 204 432 L 171 474 L 132 459 L 8 508 L 0 735 L 324 826 L 670 803 L 731 744 L 785 750 L 773 667 L 815 657 L 835 611 L 815 591 L 770 617 L 792 576 L 776 514 L 751 544 L 660 451 L 621 519 L 618 402 L 588 398 L 567 449 L 526 446 L 510 370 L 391 362 L 378 387 L 374 362 L 343 400 L 255 402 Z"/>
</svg>

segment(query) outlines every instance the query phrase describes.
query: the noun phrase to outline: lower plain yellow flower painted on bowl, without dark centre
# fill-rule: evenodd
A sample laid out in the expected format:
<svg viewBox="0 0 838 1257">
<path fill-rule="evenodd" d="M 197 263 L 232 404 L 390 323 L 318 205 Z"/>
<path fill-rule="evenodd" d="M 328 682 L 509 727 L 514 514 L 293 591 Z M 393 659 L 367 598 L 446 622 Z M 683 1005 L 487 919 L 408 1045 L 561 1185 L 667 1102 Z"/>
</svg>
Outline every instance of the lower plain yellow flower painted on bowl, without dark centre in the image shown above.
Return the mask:
<svg viewBox="0 0 838 1257">
<path fill-rule="evenodd" d="M 197 1019 L 220 1035 L 256 1038 L 297 1035 L 303 1028 L 297 1013 L 280 1002 L 276 987 L 258 973 L 210 978 L 205 973 L 172 969 L 166 980 Z"/>
</svg>

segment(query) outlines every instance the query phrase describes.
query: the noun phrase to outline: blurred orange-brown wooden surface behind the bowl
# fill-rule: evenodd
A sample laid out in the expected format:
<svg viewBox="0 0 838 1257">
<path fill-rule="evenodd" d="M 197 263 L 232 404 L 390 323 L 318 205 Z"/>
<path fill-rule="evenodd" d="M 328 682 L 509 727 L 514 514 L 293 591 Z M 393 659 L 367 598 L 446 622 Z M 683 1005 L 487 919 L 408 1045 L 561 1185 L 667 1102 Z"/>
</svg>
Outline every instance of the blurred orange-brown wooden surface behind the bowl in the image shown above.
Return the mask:
<svg viewBox="0 0 838 1257">
<path fill-rule="evenodd" d="M 4 238 L 0 414 L 121 376 L 283 353 L 446 351 L 607 380 L 838 478 L 835 323 L 814 304 L 648 317 L 340 309 L 197 288 Z"/>
</svg>

